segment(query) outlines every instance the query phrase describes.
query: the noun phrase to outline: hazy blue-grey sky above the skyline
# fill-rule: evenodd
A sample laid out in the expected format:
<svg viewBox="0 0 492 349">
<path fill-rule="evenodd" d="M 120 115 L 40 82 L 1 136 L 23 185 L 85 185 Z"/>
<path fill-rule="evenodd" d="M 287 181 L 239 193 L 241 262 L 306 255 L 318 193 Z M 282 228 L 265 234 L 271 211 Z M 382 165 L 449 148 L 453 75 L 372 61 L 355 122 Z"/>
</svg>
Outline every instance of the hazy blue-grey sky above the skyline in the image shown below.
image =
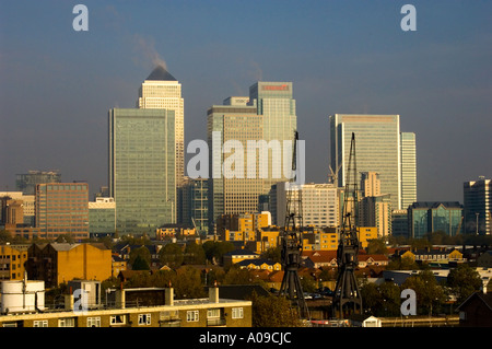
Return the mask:
<svg viewBox="0 0 492 349">
<path fill-rule="evenodd" d="M 336 113 L 400 115 L 419 201 L 492 177 L 492 1 L 21 0 L 0 2 L 0 190 L 30 170 L 106 186 L 107 112 L 134 107 L 157 61 L 183 85 L 185 144 L 211 105 L 292 81 L 308 182 L 327 181 Z"/>
</svg>

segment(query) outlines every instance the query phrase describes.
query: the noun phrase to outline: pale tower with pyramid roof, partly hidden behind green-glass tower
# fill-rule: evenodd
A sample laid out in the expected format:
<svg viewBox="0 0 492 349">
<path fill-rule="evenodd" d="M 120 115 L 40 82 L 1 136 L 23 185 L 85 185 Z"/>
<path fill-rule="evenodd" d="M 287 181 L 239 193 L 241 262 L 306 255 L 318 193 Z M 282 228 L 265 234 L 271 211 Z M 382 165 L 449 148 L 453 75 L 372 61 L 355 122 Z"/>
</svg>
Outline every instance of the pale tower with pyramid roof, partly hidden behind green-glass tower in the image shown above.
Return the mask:
<svg viewBox="0 0 492 349">
<path fill-rule="evenodd" d="M 185 176 L 185 102 L 181 84 L 162 66 L 157 66 L 139 89 L 137 107 L 174 110 L 176 142 L 176 185 Z"/>
</svg>

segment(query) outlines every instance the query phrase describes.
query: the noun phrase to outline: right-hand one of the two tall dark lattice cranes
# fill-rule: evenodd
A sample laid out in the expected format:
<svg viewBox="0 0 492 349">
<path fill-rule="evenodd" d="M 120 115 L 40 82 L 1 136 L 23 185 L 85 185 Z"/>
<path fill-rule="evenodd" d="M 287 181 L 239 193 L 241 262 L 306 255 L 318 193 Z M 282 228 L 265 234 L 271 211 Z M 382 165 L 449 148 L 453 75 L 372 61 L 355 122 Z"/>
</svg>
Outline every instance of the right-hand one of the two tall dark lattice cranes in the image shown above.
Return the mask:
<svg viewBox="0 0 492 349">
<path fill-rule="evenodd" d="M 333 315 L 344 318 L 362 314 L 362 296 L 354 270 L 359 264 L 359 237 L 356 226 L 358 171 L 355 158 L 355 135 L 352 133 L 349 166 L 343 198 L 343 223 L 340 228 L 337 249 L 338 278 L 333 295 Z"/>
</svg>

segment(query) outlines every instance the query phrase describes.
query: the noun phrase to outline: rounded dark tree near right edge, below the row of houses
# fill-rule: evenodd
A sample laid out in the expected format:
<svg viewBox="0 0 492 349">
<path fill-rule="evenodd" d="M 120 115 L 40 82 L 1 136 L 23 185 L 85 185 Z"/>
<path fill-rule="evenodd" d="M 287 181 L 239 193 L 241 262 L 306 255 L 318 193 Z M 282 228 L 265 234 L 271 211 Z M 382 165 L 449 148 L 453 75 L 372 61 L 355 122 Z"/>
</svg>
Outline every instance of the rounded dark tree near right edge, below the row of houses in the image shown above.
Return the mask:
<svg viewBox="0 0 492 349">
<path fill-rule="evenodd" d="M 449 270 L 446 284 L 456 295 L 458 303 L 461 303 L 471 293 L 480 290 L 482 280 L 477 270 L 467 264 L 460 264 L 457 268 Z"/>
</svg>

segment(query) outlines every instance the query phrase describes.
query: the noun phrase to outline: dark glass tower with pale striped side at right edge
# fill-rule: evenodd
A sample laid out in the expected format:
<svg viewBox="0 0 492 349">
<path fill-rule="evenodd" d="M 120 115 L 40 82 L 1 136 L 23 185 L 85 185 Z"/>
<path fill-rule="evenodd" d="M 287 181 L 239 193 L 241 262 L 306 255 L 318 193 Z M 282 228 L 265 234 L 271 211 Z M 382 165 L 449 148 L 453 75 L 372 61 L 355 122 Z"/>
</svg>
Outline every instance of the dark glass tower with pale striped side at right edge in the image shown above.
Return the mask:
<svg viewBox="0 0 492 349">
<path fill-rule="evenodd" d="M 467 233 L 490 234 L 492 220 L 492 181 L 480 177 L 464 183 L 465 226 Z"/>
</svg>

